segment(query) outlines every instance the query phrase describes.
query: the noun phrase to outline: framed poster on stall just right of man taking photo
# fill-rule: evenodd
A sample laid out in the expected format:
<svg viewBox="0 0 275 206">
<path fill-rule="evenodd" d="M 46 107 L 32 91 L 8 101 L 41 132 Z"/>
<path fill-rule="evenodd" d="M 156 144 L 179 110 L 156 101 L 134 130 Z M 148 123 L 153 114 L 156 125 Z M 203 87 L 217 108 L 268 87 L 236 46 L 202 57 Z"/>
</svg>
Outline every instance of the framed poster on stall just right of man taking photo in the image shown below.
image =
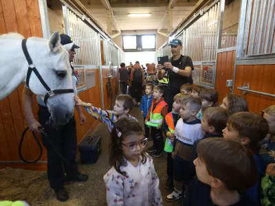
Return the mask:
<svg viewBox="0 0 275 206">
<path fill-rule="evenodd" d="M 202 64 L 201 84 L 214 87 L 214 62 L 205 62 Z"/>
</svg>

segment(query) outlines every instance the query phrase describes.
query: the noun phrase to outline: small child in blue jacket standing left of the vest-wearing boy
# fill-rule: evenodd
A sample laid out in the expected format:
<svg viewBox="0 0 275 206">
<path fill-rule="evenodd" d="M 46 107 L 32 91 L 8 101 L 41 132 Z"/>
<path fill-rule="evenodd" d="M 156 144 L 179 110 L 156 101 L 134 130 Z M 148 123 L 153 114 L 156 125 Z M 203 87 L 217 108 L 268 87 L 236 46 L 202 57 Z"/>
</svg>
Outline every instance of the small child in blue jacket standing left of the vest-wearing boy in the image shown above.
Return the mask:
<svg viewBox="0 0 275 206">
<path fill-rule="evenodd" d="M 143 119 L 145 121 L 146 115 L 148 114 L 149 109 L 151 108 L 151 104 L 153 102 L 153 89 L 155 85 L 148 83 L 146 84 L 146 89 L 145 89 L 145 95 L 142 97 L 142 104 L 140 104 L 140 112 L 143 115 Z M 145 130 L 145 137 L 149 137 L 149 132 L 150 129 L 148 126 L 144 124 L 144 130 Z"/>
</svg>

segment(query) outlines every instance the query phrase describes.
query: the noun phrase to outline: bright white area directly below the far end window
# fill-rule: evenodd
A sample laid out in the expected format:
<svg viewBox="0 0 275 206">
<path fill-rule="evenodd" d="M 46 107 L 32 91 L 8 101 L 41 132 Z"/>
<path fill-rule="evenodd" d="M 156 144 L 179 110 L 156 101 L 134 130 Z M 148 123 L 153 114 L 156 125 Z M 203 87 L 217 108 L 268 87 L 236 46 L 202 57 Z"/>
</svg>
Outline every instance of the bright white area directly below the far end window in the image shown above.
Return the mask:
<svg viewBox="0 0 275 206">
<path fill-rule="evenodd" d="M 135 64 L 135 61 L 139 61 L 140 65 L 146 67 L 146 63 L 151 64 L 154 62 L 155 52 L 125 52 L 124 60 L 125 64 L 129 65 L 130 62 Z"/>
</svg>

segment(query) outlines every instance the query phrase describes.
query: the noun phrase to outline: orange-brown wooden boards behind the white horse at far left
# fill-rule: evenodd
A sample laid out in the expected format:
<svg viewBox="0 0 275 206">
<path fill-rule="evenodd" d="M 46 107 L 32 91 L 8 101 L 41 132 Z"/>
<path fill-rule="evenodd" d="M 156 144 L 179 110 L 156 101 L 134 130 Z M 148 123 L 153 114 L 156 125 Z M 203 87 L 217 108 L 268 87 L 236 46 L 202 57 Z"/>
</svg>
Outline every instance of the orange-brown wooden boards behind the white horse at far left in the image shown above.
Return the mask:
<svg viewBox="0 0 275 206">
<path fill-rule="evenodd" d="M 25 38 L 30 36 L 43 37 L 39 1 L 32 0 L 0 0 L 0 34 L 8 32 L 17 32 Z M 6 161 L 7 164 L 0 164 L 0 168 L 14 166 L 17 168 L 28 168 L 36 170 L 45 165 L 25 165 L 12 164 L 8 161 L 19 161 L 18 146 L 21 134 L 28 126 L 23 112 L 21 95 L 23 84 L 13 91 L 7 98 L 0 102 L 0 161 Z M 38 106 L 34 95 L 34 114 L 36 115 Z M 36 115 L 37 118 L 37 115 Z M 44 148 L 45 150 L 45 148 Z M 25 137 L 22 147 L 22 155 L 25 159 L 34 160 L 39 155 L 39 147 L 34 141 L 31 133 Z M 41 161 L 45 161 L 46 152 L 44 152 Z"/>
</svg>

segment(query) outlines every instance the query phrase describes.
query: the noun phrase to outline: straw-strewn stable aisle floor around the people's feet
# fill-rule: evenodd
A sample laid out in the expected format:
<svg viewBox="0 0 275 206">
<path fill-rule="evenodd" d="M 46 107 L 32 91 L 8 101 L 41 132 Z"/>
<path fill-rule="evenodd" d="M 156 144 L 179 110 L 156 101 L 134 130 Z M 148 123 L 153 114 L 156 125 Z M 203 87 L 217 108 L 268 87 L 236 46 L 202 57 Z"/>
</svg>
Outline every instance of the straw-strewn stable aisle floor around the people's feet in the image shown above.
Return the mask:
<svg viewBox="0 0 275 206">
<path fill-rule="evenodd" d="M 131 111 L 131 115 L 134 117 L 137 117 L 139 122 L 143 122 L 143 117 L 140 114 L 140 108 L 135 107 L 133 108 L 133 111 Z M 100 135 L 102 137 L 102 154 L 100 155 L 100 158 L 98 159 L 98 162 L 94 165 L 83 165 L 79 162 L 79 170 L 80 172 L 86 173 L 89 175 L 89 180 L 85 183 L 72 183 L 69 185 L 65 185 L 67 191 L 69 192 L 69 200 L 65 203 L 61 203 L 56 200 L 54 196 L 54 192 L 49 189 L 49 185 L 47 182 L 47 176 L 45 172 L 39 172 L 37 174 L 37 179 L 35 182 L 30 183 L 29 186 L 21 186 L 21 192 L 20 196 L 17 198 L 20 198 L 22 200 L 29 201 L 31 205 L 74 205 L 74 206 L 83 206 L 83 205 L 107 205 L 106 203 L 106 187 L 104 185 L 103 176 L 107 173 L 107 171 L 110 169 L 109 163 L 108 163 L 108 148 L 109 148 L 109 130 L 106 125 L 100 124 L 98 126 L 97 130 L 95 131 L 94 135 Z M 153 144 L 152 141 L 148 142 L 149 148 Z M 182 205 L 182 199 L 180 199 L 177 202 L 174 203 L 167 203 L 166 202 L 166 195 L 169 194 L 165 188 L 165 181 L 166 181 L 166 154 L 163 154 L 161 157 L 154 158 L 153 163 L 155 165 L 155 170 L 159 176 L 160 181 L 160 190 L 162 192 L 162 198 L 164 205 Z M 13 170 L 13 169 L 12 169 Z M 20 169 L 19 169 L 20 170 Z M 27 171 L 23 170 L 23 173 L 27 173 Z M 32 176 L 33 171 L 28 171 L 28 176 Z M 5 174 L 7 172 L 0 172 L 1 175 Z M 10 172 L 12 173 L 12 172 Z M 10 176 L 12 176 L 10 174 Z M 7 181 L 7 183 L 10 183 L 11 181 L 8 181 L 8 177 L 4 177 Z M 26 177 L 25 179 L 30 179 L 30 177 Z M 10 188 L 12 188 L 12 191 L 16 192 L 16 187 L 20 187 L 16 185 L 17 181 L 13 181 L 14 183 L 10 183 Z M 13 185 L 12 185 L 13 184 Z M 40 185 L 41 184 L 41 187 Z M 6 185 L 6 184 L 3 184 Z M 20 185 L 22 185 L 20 183 Z M 38 188 L 34 192 L 30 192 L 26 187 L 30 188 L 32 185 L 36 185 Z M 0 183 L 0 191 L 8 190 L 10 189 L 8 187 L 2 187 Z M 23 189 L 22 189 L 23 188 Z M 24 189 L 25 188 L 25 189 Z M 2 191 L 3 191 L 2 190 Z M 24 192 L 25 191 L 25 192 Z M 8 191 L 7 191 L 8 192 Z M 11 194 L 14 194 L 12 192 Z M 10 196 L 1 196 L 0 199 L 10 199 L 12 200 L 12 195 Z"/>
</svg>

